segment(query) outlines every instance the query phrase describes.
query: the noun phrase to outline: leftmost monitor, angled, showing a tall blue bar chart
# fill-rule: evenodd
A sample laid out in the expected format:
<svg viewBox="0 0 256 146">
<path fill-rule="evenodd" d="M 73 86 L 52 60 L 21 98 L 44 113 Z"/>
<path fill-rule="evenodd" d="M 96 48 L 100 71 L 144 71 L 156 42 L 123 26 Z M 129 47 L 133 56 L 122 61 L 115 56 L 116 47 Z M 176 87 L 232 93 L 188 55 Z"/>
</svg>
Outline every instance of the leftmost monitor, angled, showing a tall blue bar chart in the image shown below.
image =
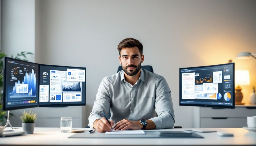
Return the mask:
<svg viewBox="0 0 256 146">
<path fill-rule="evenodd" d="M 4 59 L 3 110 L 38 107 L 38 64 Z"/>
</svg>

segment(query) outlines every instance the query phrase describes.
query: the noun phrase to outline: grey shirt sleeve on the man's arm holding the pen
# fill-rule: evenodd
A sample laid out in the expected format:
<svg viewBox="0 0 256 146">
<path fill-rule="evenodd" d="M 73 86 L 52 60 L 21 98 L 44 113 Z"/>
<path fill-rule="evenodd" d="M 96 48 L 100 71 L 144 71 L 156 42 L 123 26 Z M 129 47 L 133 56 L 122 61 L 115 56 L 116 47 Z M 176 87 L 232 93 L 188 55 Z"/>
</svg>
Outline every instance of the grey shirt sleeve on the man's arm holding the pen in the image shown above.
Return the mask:
<svg viewBox="0 0 256 146">
<path fill-rule="evenodd" d="M 89 116 L 89 127 L 93 128 L 93 122 L 102 118 L 102 111 L 108 114 L 110 107 L 109 86 L 107 78 L 103 78 L 100 83 L 96 99 L 92 108 L 92 112 Z"/>
</svg>

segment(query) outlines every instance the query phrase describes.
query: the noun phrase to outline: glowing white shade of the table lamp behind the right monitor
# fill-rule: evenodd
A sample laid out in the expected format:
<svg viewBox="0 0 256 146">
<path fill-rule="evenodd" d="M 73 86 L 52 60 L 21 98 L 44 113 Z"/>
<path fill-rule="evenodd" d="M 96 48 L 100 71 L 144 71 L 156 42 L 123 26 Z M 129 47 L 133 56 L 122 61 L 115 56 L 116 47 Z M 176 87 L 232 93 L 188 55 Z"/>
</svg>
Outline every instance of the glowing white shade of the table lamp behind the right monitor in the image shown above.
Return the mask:
<svg viewBox="0 0 256 146">
<path fill-rule="evenodd" d="M 250 85 L 249 70 L 235 70 L 236 85 Z"/>
</svg>

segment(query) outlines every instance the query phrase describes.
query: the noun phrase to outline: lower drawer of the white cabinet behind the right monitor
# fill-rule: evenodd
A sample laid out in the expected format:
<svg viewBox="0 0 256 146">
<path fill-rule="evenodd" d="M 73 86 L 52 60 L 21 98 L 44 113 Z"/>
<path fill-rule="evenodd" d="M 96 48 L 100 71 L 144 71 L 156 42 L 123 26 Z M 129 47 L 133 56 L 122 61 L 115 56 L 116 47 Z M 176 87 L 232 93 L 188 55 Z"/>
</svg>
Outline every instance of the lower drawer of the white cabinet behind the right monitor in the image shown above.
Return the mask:
<svg viewBox="0 0 256 146">
<path fill-rule="evenodd" d="M 242 128 L 244 126 L 247 126 L 247 118 L 200 118 L 201 128 Z"/>
</svg>

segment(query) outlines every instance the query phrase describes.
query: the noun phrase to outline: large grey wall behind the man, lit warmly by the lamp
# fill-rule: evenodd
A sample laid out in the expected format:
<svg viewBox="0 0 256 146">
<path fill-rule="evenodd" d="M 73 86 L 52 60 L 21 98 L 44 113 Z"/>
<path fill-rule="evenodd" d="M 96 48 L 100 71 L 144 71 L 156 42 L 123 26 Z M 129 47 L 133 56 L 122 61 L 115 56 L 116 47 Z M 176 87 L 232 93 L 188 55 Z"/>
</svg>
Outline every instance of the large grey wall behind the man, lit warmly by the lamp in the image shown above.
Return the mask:
<svg viewBox="0 0 256 146">
<path fill-rule="evenodd" d="M 236 55 L 256 52 L 255 7 L 249 0 L 36 1 L 35 60 L 87 68 L 88 117 L 102 78 L 120 65 L 118 43 L 136 38 L 144 46 L 143 65 L 152 65 L 170 86 L 175 125 L 193 127 L 193 107 L 179 106 L 179 68 L 232 59 L 236 69 L 250 70 L 251 85 L 242 86 L 248 102 L 256 62 Z"/>
</svg>

